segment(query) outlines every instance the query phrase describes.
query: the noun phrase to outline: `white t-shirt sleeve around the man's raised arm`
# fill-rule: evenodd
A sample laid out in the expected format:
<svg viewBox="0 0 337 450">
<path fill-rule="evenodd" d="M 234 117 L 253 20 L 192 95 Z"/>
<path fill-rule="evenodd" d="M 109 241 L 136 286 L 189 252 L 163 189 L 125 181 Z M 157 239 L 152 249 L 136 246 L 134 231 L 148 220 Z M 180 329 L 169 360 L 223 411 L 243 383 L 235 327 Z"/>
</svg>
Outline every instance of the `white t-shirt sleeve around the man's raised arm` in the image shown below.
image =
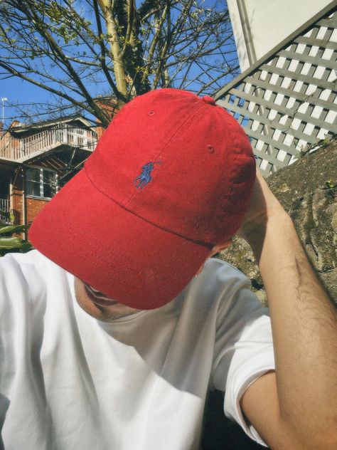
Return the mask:
<svg viewBox="0 0 337 450">
<path fill-rule="evenodd" d="M 251 439 L 267 446 L 245 421 L 240 398 L 250 384 L 275 367 L 269 310 L 250 290 L 250 280 L 232 269 L 235 277 L 218 308 L 210 387 L 225 392 L 225 415 L 240 424 Z"/>
</svg>

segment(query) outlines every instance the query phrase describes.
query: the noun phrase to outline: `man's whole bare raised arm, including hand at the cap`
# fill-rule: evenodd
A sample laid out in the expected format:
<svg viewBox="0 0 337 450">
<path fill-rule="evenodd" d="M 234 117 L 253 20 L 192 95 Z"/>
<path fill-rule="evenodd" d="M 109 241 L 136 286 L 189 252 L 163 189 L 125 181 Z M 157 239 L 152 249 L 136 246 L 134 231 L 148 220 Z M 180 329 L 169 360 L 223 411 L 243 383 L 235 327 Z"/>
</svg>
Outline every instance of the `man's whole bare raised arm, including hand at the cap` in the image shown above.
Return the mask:
<svg viewBox="0 0 337 450">
<path fill-rule="evenodd" d="M 337 310 L 260 173 L 239 236 L 264 281 L 276 364 L 242 396 L 245 416 L 273 450 L 337 449 Z"/>
</svg>

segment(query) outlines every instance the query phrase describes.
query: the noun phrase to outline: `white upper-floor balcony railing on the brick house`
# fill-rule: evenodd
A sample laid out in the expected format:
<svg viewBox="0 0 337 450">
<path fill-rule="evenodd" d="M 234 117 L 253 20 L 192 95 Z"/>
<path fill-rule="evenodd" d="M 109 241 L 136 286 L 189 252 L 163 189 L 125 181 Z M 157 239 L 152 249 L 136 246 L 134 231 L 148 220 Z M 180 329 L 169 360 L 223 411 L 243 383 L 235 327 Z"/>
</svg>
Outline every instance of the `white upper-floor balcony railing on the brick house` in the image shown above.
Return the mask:
<svg viewBox="0 0 337 450">
<path fill-rule="evenodd" d="M 0 158 L 24 161 L 60 145 L 92 151 L 96 143 L 97 134 L 94 131 L 60 123 L 22 139 L 9 137 L 5 140 L 3 137 L 0 140 Z"/>
</svg>

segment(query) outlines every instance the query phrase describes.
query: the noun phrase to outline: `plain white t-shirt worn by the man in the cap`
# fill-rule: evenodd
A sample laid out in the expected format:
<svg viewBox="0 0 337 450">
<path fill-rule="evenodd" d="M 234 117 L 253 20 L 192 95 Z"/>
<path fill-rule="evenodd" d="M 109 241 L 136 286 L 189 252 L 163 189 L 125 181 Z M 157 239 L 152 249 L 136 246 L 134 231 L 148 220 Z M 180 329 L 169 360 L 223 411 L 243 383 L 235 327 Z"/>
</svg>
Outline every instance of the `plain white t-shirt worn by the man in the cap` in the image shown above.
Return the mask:
<svg viewBox="0 0 337 450">
<path fill-rule="evenodd" d="M 274 369 L 272 332 L 240 271 L 209 259 L 171 303 L 111 323 L 77 305 L 73 283 L 36 250 L 0 258 L 6 450 L 198 449 L 214 388 L 264 444 L 239 401 Z"/>
</svg>

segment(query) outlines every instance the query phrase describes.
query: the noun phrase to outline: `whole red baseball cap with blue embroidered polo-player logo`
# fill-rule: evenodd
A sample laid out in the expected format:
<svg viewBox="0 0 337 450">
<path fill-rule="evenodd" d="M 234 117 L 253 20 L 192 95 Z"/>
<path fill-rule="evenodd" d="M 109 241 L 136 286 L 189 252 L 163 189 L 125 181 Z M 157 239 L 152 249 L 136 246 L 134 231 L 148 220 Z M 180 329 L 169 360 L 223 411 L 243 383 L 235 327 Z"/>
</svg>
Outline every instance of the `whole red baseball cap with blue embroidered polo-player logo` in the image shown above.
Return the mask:
<svg viewBox="0 0 337 450">
<path fill-rule="evenodd" d="M 250 142 L 213 98 L 153 90 L 118 112 L 28 236 L 107 297 L 158 308 L 239 229 L 254 181 Z"/>
</svg>

